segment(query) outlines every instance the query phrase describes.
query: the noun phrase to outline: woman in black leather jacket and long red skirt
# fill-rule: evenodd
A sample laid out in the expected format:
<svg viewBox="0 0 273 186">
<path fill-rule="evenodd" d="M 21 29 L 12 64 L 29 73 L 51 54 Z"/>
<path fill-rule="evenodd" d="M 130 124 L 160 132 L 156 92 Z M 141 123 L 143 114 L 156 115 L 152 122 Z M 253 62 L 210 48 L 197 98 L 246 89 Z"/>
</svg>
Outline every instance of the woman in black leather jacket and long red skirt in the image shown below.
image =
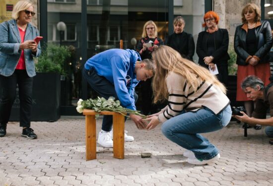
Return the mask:
<svg viewBox="0 0 273 186">
<path fill-rule="evenodd" d="M 270 83 L 270 49 L 272 33 L 270 23 L 261 21 L 261 9 L 248 3 L 242 10 L 242 25 L 237 26 L 234 36 L 234 50 L 237 53 L 237 101 L 244 101 L 247 115 L 254 110 L 253 101 L 241 89 L 241 82 L 249 75 L 258 76 L 265 85 Z M 256 126 L 260 129 L 260 126 Z"/>
</svg>

